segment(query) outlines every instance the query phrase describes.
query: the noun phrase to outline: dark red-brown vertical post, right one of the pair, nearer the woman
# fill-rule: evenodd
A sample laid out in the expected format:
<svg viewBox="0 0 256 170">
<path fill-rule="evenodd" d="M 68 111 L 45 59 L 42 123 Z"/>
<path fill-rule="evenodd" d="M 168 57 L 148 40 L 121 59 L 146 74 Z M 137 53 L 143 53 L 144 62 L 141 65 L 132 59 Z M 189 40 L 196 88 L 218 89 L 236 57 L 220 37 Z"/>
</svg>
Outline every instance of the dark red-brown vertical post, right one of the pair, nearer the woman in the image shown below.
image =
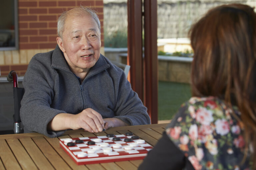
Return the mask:
<svg viewBox="0 0 256 170">
<path fill-rule="evenodd" d="M 157 0 L 144 0 L 145 100 L 151 123 L 158 122 Z"/>
</svg>

